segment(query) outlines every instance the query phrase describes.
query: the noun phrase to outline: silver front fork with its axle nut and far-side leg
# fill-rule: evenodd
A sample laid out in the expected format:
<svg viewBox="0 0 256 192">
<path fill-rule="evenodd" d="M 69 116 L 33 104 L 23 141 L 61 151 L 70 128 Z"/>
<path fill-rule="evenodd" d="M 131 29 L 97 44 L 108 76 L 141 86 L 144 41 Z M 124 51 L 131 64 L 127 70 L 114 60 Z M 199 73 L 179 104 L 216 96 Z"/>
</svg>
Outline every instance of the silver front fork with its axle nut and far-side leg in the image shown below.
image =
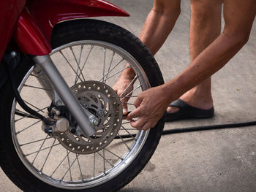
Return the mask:
<svg viewBox="0 0 256 192">
<path fill-rule="evenodd" d="M 65 82 L 64 78 L 59 73 L 59 70 L 53 64 L 50 55 L 35 56 L 33 59 L 35 64 L 37 64 L 43 71 L 43 73 L 39 74 L 40 69 L 35 66 L 34 72 L 39 74 L 37 79 L 39 80 L 40 84 L 47 90 L 49 87 L 51 88 L 53 86 L 57 93 L 57 96 L 54 96 L 53 98 L 53 93 L 50 91 L 46 92 L 50 99 L 56 100 L 56 97 L 59 97 L 59 99 L 64 102 L 72 117 L 80 126 L 83 134 L 85 134 L 87 137 L 93 135 L 96 131 L 94 126 L 98 126 L 97 118 L 92 115 L 91 112 L 83 109 L 80 106 L 78 100 L 75 98 L 69 86 L 67 85 L 67 82 Z M 51 84 L 45 80 L 46 78 L 43 77 L 44 74 L 46 74 Z"/>
</svg>

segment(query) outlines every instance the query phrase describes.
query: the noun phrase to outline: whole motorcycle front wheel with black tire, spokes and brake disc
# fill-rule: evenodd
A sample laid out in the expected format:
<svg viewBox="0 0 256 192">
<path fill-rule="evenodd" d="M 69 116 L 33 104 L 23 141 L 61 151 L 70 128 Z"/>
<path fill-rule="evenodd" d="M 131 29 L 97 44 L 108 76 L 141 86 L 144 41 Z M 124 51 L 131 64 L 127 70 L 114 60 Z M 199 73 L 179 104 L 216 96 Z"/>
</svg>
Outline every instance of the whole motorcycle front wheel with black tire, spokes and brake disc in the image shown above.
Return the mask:
<svg viewBox="0 0 256 192">
<path fill-rule="evenodd" d="M 51 41 L 54 64 L 81 106 L 102 116 L 101 128 L 93 137 L 71 126 L 46 134 L 41 120 L 15 101 L 7 82 L 1 88 L 1 168 L 23 191 L 118 191 L 146 166 L 162 134 L 163 119 L 140 131 L 120 108 L 129 97 L 129 110 L 134 110 L 141 91 L 163 83 L 157 62 L 129 31 L 99 20 L 59 23 Z M 118 99 L 112 87 L 130 67 L 136 75 Z M 47 116 L 55 91 L 42 86 L 40 81 L 48 79 L 38 70 L 18 65 L 15 78 L 26 104 Z"/>
</svg>

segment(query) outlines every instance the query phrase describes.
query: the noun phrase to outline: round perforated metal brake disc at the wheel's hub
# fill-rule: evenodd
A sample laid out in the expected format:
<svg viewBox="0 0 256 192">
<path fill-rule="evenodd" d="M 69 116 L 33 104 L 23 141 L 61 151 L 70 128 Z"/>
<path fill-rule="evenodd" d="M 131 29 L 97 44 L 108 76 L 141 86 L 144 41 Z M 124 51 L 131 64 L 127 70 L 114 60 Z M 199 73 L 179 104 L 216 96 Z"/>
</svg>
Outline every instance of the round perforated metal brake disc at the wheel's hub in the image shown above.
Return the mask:
<svg viewBox="0 0 256 192">
<path fill-rule="evenodd" d="M 97 132 L 91 137 L 76 134 L 69 130 L 57 135 L 57 139 L 74 153 L 90 154 L 107 147 L 118 134 L 123 117 L 121 101 L 113 89 L 103 82 L 80 82 L 71 88 L 81 106 L 89 110 L 99 120 Z"/>
</svg>

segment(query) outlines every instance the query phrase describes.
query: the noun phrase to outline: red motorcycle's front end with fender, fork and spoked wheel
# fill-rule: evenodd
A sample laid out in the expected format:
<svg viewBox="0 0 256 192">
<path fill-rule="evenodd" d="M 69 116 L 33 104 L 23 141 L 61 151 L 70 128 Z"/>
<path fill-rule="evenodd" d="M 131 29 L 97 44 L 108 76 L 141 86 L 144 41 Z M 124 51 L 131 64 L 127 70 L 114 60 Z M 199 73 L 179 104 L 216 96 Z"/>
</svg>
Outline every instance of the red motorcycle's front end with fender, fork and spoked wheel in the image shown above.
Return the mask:
<svg viewBox="0 0 256 192">
<path fill-rule="evenodd" d="M 123 118 L 163 83 L 129 31 L 97 16 L 129 16 L 103 0 L 1 0 L 0 164 L 23 191 L 118 191 L 146 165 L 163 128 Z M 136 76 L 121 96 L 121 72 Z"/>
</svg>

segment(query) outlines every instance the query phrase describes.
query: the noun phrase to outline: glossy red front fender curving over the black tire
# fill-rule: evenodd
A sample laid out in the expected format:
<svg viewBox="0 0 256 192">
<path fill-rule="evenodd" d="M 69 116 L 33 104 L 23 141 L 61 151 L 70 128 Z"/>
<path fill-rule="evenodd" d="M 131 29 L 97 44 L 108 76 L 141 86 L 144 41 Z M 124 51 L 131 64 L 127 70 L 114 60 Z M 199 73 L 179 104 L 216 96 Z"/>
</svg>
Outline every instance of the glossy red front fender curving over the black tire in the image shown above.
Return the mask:
<svg viewBox="0 0 256 192">
<path fill-rule="evenodd" d="M 23 53 L 47 55 L 56 23 L 77 18 L 129 16 L 123 9 L 104 0 L 28 1 L 18 20 L 14 39 Z"/>
</svg>

